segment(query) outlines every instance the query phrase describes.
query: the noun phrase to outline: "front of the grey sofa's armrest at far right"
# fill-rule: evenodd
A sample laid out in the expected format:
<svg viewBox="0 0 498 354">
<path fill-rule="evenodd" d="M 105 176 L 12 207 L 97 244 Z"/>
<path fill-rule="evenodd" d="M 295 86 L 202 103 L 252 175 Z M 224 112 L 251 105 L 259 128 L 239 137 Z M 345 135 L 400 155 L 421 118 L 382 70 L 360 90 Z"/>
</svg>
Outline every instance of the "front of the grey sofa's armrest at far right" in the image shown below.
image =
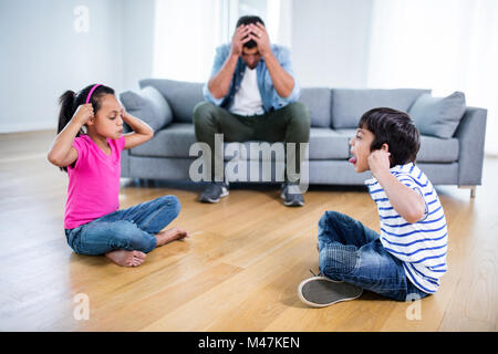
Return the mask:
<svg viewBox="0 0 498 354">
<path fill-rule="evenodd" d="M 486 110 L 467 107 L 455 132 L 455 137 L 458 138 L 459 144 L 459 186 L 478 186 L 481 184 L 486 118 Z"/>
</svg>

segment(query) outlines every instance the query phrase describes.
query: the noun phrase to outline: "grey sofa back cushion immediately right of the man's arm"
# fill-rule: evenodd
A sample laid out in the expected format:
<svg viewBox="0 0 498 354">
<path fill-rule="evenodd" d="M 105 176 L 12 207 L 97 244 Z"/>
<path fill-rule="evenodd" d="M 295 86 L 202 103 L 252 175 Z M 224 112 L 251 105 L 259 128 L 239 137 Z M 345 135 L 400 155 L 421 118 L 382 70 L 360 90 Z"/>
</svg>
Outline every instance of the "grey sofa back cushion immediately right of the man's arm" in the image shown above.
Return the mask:
<svg viewBox="0 0 498 354">
<path fill-rule="evenodd" d="M 311 115 L 311 126 L 330 127 L 331 91 L 322 87 L 304 87 L 301 90 L 300 102 L 308 106 Z"/>
</svg>

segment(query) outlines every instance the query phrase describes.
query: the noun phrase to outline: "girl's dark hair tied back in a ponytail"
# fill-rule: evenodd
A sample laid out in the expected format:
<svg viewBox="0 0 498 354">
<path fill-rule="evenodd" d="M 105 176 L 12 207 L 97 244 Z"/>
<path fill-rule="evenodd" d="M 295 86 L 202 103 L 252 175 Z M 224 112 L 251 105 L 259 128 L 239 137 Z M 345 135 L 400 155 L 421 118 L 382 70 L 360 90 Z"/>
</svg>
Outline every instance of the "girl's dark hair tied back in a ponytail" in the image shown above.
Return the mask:
<svg viewBox="0 0 498 354">
<path fill-rule="evenodd" d="M 70 123 L 71 118 L 73 117 L 74 113 L 76 112 L 77 107 L 86 102 L 86 97 L 89 96 L 90 91 L 95 84 L 91 84 L 80 92 L 74 92 L 71 90 L 68 90 L 64 92 L 61 97 L 59 97 L 59 104 L 61 105 L 61 111 L 59 113 L 59 124 L 58 124 L 58 134 L 64 129 L 64 127 Z M 92 97 L 90 98 L 90 103 L 93 106 L 93 113 L 96 114 L 97 111 L 101 108 L 101 98 L 104 95 L 114 94 L 114 90 L 100 85 L 95 88 L 95 91 L 92 93 Z M 77 132 L 76 137 L 84 134 L 83 131 Z M 61 167 L 61 170 L 68 171 L 66 167 Z"/>
</svg>

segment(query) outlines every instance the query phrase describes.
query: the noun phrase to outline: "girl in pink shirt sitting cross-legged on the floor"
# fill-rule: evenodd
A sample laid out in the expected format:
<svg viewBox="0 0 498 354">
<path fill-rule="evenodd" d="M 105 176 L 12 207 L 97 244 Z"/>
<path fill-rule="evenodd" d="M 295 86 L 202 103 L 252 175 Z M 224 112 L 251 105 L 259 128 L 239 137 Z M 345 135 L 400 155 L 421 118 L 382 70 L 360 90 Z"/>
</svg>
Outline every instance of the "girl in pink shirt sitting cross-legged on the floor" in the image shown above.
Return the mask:
<svg viewBox="0 0 498 354">
<path fill-rule="evenodd" d="M 66 91 L 60 104 L 59 135 L 49 160 L 69 176 L 69 246 L 80 254 L 105 254 L 118 266 L 137 267 L 154 248 L 187 237 L 181 228 L 162 231 L 180 210 L 175 196 L 117 210 L 121 152 L 151 139 L 153 129 L 126 113 L 114 90 L 104 85 Z M 123 122 L 132 133 L 123 135 Z"/>
</svg>

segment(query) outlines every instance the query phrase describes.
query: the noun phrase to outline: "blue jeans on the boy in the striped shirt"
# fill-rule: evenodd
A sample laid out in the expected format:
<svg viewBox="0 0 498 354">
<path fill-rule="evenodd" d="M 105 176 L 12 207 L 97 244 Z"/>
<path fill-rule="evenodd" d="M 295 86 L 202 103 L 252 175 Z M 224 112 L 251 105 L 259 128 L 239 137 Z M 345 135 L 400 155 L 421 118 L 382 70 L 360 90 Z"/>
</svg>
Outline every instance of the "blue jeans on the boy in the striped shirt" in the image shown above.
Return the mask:
<svg viewBox="0 0 498 354">
<path fill-rule="evenodd" d="M 377 232 L 349 216 L 325 211 L 319 221 L 320 272 L 397 301 L 427 296 L 405 275 L 403 262 L 387 252 Z"/>
</svg>

